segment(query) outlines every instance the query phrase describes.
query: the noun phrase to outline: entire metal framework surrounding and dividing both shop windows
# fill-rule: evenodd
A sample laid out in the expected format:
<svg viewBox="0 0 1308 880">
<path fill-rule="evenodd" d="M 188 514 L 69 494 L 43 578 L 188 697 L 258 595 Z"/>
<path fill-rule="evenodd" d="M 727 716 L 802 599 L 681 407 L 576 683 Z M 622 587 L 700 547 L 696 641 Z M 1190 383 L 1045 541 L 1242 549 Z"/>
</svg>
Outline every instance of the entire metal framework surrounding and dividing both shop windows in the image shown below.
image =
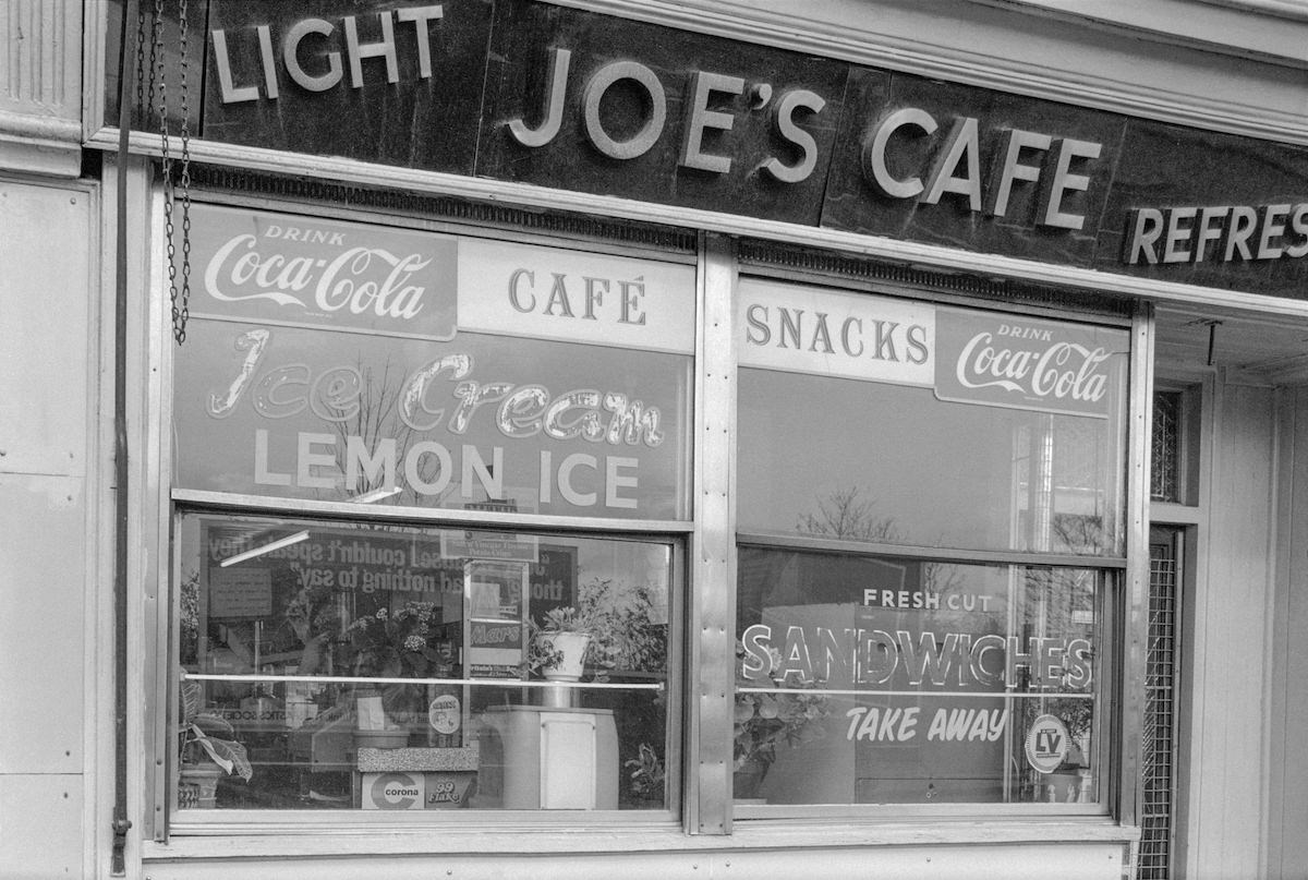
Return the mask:
<svg viewBox="0 0 1308 880">
<path fill-rule="evenodd" d="M 170 485 L 171 461 L 171 378 L 173 378 L 173 339 L 169 331 L 169 284 L 167 271 L 161 246 L 164 194 L 153 182 L 141 178 L 144 186 L 137 191 L 141 228 L 145 230 L 141 245 L 144 275 L 149 279 L 146 296 L 139 309 L 128 317 L 129 330 L 136 346 L 131 369 L 136 388 L 143 389 L 141 402 L 133 412 L 133 430 L 140 437 L 143 453 L 133 464 L 133 482 L 139 491 L 133 492 L 132 509 L 128 512 L 136 524 L 140 538 L 139 550 L 131 560 L 131 571 L 144 584 L 133 606 L 137 623 L 129 631 L 131 651 L 141 657 L 133 664 L 135 681 L 129 685 L 137 694 L 139 712 L 136 715 L 136 742 L 141 746 L 143 773 L 140 783 L 140 817 L 145 839 L 167 843 L 173 834 L 179 838 L 188 835 L 245 835 L 268 833 L 293 834 L 349 834 L 360 828 L 391 828 L 396 830 L 426 832 L 436 828 L 450 828 L 455 834 L 484 832 L 492 824 L 511 822 L 538 830 L 574 828 L 573 817 L 557 820 L 540 812 L 510 813 L 510 811 L 468 811 L 467 818 L 451 821 L 454 811 L 442 812 L 436 820 L 421 822 L 404 821 L 395 813 L 378 811 L 375 816 L 361 815 L 362 811 L 349 811 L 332 821 L 323 821 L 323 813 L 314 813 L 311 821 L 296 811 L 273 813 L 259 811 L 258 824 L 251 824 L 250 812 L 232 812 L 230 820 L 203 824 L 177 822 L 169 815 L 170 767 L 167 763 L 169 742 L 174 739 L 169 732 L 167 719 L 175 710 L 175 688 L 171 688 L 170 670 L 175 663 L 173 632 L 174 592 L 177 559 L 171 553 L 171 530 L 175 511 L 184 508 L 222 509 L 225 512 L 251 515 L 324 516 L 336 517 L 352 511 L 348 504 L 311 500 L 281 500 L 262 496 L 226 495 L 221 492 L 196 492 L 174 490 Z M 773 536 L 738 536 L 736 525 L 736 333 L 734 321 L 734 301 L 738 278 L 742 274 L 759 275 L 769 279 L 812 283 L 840 289 L 869 289 L 866 283 L 852 280 L 838 268 L 810 270 L 789 267 L 783 259 L 766 263 L 751 259 L 743 242 L 751 241 L 735 234 L 700 232 L 693 253 L 676 251 L 667 248 L 615 242 L 599 234 L 586 236 L 566 233 L 544 234 L 510 223 L 496 221 L 447 221 L 433 219 L 432 215 L 407 212 L 392 208 L 343 207 L 317 202 L 307 196 L 269 196 L 260 192 L 234 192 L 222 189 L 196 189 L 194 196 L 217 204 L 241 206 L 252 210 L 315 212 L 320 216 L 353 223 L 403 224 L 407 228 L 430 230 L 445 234 L 473 234 L 477 237 L 505 238 L 514 242 L 544 246 L 562 246 L 577 250 L 593 250 L 600 254 L 630 255 L 647 259 L 688 263 L 696 267 L 696 339 L 692 360 L 691 407 L 692 432 L 689 440 L 689 519 L 685 521 L 645 521 L 607 520 L 590 517 L 553 517 L 538 515 L 506 515 L 488 511 L 413 511 L 395 513 L 395 519 L 407 522 L 430 522 L 433 526 L 484 526 L 500 530 L 526 528 L 542 532 L 562 530 L 576 533 L 595 533 L 615 536 L 646 534 L 666 537 L 674 546 L 672 606 L 670 606 L 670 691 L 679 688 L 679 697 L 670 699 L 668 718 L 672 724 L 674 712 L 678 727 L 671 727 L 668 741 L 670 762 L 674 750 L 679 750 L 680 778 L 670 779 L 670 792 L 676 791 L 678 800 L 670 795 L 667 816 L 658 818 L 638 816 L 637 811 L 620 811 L 612 816 L 593 812 L 587 820 L 594 820 L 596 828 L 621 830 L 629 828 L 655 829 L 668 832 L 678 829 L 683 834 L 730 835 L 735 818 L 746 820 L 742 832 L 766 828 L 755 818 L 777 818 L 777 813 L 756 815 L 746 808 L 735 809 L 731 803 L 731 707 L 734 699 L 732 646 L 735 639 L 735 583 L 736 583 L 736 541 L 738 537 L 768 540 Z M 757 244 L 751 241 L 757 250 Z M 766 246 L 768 249 L 772 245 Z M 778 251 L 783 245 L 776 245 Z M 836 255 L 840 258 L 840 255 Z M 862 257 L 853 257 L 862 261 Z M 916 270 L 914 270 L 916 271 Z M 897 278 L 897 276 L 896 276 Z M 923 278 L 929 278 L 925 276 Z M 943 276 L 942 276 L 943 278 Z M 1144 301 L 1133 301 L 1127 317 L 1109 313 L 1093 304 L 1076 304 L 1074 291 L 1066 289 L 1066 302 L 1061 306 L 989 300 L 984 295 L 964 295 L 951 287 L 935 287 L 929 280 L 876 282 L 876 292 L 896 297 L 929 300 L 943 305 L 985 308 L 1014 314 L 1035 314 L 1048 318 L 1071 318 L 1084 322 L 1129 327 L 1131 331 L 1129 376 L 1127 376 L 1127 423 L 1125 452 L 1125 494 L 1124 528 L 1126 534 L 1126 555 L 1114 559 L 1112 568 L 1120 578 L 1120 587 L 1112 591 L 1105 606 L 1105 631 L 1113 635 L 1112 676 L 1113 676 L 1113 716 L 1104 728 L 1104 748 L 1109 750 L 1104 775 L 1100 779 L 1101 803 L 1107 805 L 1107 818 L 1116 825 L 1133 825 L 1135 809 L 1133 805 L 1137 790 L 1137 766 L 1139 762 L 1139 710 L 1143 706 L 1143 685 L 1131 682 L 1131 670 L 1143 668 L 1144 632 L 1147 619 L 1143 614 L 1147 591 L 1147 522 L 1148 509 L 1148 389 L 1152 380 L 1152 306 Z M 143 464 L 144 462 L 144 464 Z M 385 517 L 386 513 L 379 513 Z M 844 549 L 844 545 L 841 545 Z M 1143 550 L 1142 550 L 1143 547 Z M 888 554 L 903 555 L 905 547 L 895 545 L 884 549 Z M 1015 554 L 1023 555 L 1023 554 Z M 978 557 L 969 557 L 973 560 Z M 1058 564 L 1058 558 L 1040 557 L 1040 564 Z M 1084 567 L 1090 558 L 1074 557 L 1067 562 Z M 726 588 L 723 588 L 726 585 Z M 679 665 L 672 668 L 672 664 Z M 1134 744 L 1134 745 L 1133 745 Z M 770 808 L 764 808 L 770 809 Z M 655 812 L 655 811 L 641 811 Z M 1105 809 L 1092 815 L 1074 813 L 1066 816 L 1075 822 L 1090 820 L 1103 821 Z M 903 805 L 896 808 L 904 815 Z M 914 820 L 929 818 L 980 818 L 982 809 L 976 805 L 963 805 L 956 813 L 943 812 L 931 807 L 922 812 L 908 813 Z M 995 815 L 989 807 L 984 815 Z M 1058 818 L 1057 815 L 1041 812 L 1040 816 Z M 999 813 L 1003 818 L 1031 818 L 1031 811 L 1020 811 L 1012 816 Z M 848 820 L 854 828 L 872 826 L 886 818 L 884 812 L 869 807 L 857 811 L 832 811 L 815 808 L 806 813 L 789 815 L 794 822 L 812 822 L 812 828 L 823 828 L 831 818 Z M 246 821 L 243 821 L 246 820 Z M 411 820 L 411 817 L 409 817 Z M 521 820 L 521 821 L 519 821 Z M 1091 829 L 1091 825 L 1086 825 Z M 1087 830 L 1087 834 L 1093 832 Z M 749 838 L 752 839 L 752 837 Z"/>
</svg>

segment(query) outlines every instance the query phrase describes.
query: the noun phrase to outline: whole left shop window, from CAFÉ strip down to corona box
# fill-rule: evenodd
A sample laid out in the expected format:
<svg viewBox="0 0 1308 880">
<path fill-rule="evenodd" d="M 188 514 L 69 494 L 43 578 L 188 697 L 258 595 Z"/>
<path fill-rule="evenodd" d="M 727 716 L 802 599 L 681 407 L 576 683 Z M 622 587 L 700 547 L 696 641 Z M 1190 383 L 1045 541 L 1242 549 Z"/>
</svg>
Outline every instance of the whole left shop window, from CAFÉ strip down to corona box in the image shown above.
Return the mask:
<svg viewBox="0 0 1308 880">
<path fill-rule="evenodd" d="M 173 828 L 235 811 L 666 818 L 693 266 L 191 216 L 157 672 Z"/>
</svg>

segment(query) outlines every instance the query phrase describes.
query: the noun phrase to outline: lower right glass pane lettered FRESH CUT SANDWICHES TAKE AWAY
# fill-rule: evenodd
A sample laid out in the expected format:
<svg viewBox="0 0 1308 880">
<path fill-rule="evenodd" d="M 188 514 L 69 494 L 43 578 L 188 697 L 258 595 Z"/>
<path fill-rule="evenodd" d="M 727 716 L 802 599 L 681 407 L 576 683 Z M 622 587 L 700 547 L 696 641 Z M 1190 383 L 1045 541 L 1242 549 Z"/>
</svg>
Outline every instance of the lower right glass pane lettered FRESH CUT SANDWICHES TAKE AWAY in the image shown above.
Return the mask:
<svg viewBox="0 0 1308 880">
<path fill-rule="evenodd" d="M 1108 585 L 742 547 L 738 803 L 1096 803 Z"/>
</svg>

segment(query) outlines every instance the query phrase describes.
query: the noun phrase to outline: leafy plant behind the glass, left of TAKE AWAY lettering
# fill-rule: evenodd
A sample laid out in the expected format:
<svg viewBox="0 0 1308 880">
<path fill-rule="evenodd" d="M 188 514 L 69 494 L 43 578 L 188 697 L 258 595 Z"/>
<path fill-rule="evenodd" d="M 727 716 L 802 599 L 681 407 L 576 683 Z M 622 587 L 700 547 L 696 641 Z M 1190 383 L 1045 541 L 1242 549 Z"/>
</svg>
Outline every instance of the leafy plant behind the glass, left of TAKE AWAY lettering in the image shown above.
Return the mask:
<svg viewBox="0 0 1308 880">
<path fill-rule="evenodd" d="M 777 688 L 793 688 L 774 672 L 781 667 L 781 653 L 772 648 L 770 655 L 768 682 Z M 752 765 L 761 780 L 777 760 L 777 746 L 785 744 L 793 748 L 819 736 L 821 728 L 815 724 L 831 710 L 821 694 L 742 693 L 740 688 L 759 686 L 757 680 L 744 677 L 743 668 L 744 646 L 738 643 L 732 770 L 746 770 Z"/>
</svg>

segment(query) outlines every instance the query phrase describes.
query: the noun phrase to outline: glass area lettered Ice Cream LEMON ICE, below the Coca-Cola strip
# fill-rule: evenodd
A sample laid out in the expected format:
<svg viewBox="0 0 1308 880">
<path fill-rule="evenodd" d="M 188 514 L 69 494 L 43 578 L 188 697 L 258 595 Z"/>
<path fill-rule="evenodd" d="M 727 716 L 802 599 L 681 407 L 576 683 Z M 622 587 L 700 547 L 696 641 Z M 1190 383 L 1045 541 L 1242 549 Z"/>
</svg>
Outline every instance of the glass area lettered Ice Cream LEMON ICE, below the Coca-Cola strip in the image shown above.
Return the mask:
<svg viewBox="0 0 1308 880">
<path fill-rule="evenodd" d="M 175 384 L 181 488 L 408 507 L 490 502 L 573 516 L 685 515 L 689 361 L 676 355 L 203 320 L 191 321 L 183 355 Z M 242 378 L 247 364 L 252 377 Z M 404 395 L 420 386 L 425 402 L 405 409 Z M 600 405 L 613 394 L 634 402 L 629 431 L 616 414 L 621 407 Z M 221 414 L 217 399 L 230 399 Z M 505 410 L 505 401 L 518 405 Z M 545 431 L 547 411 L 557 414 L 555 436 Z"/>
</svg>

